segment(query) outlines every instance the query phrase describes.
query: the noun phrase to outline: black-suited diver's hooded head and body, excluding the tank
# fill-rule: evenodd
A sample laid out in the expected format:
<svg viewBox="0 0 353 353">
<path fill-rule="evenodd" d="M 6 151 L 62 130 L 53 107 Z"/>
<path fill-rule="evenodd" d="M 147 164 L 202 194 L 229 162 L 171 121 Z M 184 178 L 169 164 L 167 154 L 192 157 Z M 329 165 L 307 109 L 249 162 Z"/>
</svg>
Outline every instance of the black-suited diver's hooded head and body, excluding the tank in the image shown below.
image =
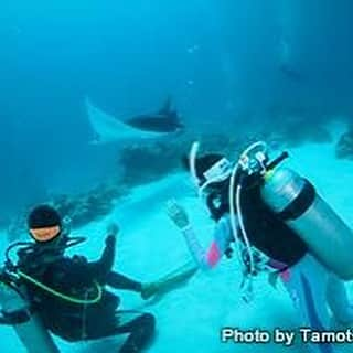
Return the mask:
<svg viewBox="0 0 353 353">
<path fill-rule="evenodd" d="M 81 239 L 69 238 L 65 234 L 62 218 L 54 208 L 47 205 L 35 207 L 28 225 L 35 243 L 18 252 L 17 265 L 8 264 L 14 267 L 12 269 L 15 269 L 25 289 L 25 298 L 30 302 L 28 312 L 36 313 L 45 329 L 66 341 L 96 340 L 128 333 L 119 352 L 140 352 L 153 336 L 154 317 L 150 313 L 119 311 L 119 298 L 106 290 L 105 286 L 148 297 L 149 287 L 153 287 L 153 284 L 142 285 L 111 270 L 118 227 L 108 227 L 100 258 L 88 261 L 83 256 L 65 256 L 65 250 Z M 8 276 L 7 282 L 11 285 L 11 276 Z M 21 323 L 25 321 L 21 315 L 4 315 L 1 321 Z M 45 352 L 57 351 L 47 349 Z"/>
</svg>

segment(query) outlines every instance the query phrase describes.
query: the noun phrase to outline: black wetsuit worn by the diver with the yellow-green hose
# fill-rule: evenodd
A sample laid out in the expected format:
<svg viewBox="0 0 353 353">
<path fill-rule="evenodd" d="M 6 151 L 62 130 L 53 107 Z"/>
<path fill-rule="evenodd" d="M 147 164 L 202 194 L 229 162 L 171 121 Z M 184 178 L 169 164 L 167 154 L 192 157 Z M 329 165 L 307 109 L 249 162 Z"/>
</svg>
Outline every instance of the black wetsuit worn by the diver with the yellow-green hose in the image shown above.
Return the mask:
<svg viewBox="0 0 353 353">
<path fill-rule="evenodd" d="M 45 245 L 36 244 L 40 248 Z M 36 255 L 40 253 L 40 257 Z M 50 253 L 50 255 L 47 254 Z M 117 289 L 140 292 L 141 284 L 111 271 L 115 259 L 115 239 L 107 238 L 98 261 L 88 263 L 81 256 L 66 257 L 62 253 L 36 252 L 19 254 L 19 268 L 66 296 L 92 299 L 97 295 L 94 281 Z M 154 332 L 154 318 L 149 313 L 118 311 L 119 298 L 103 289 L 101 299 L 94 304 L 77 304 L 57 298 L 43 289 L 26 284 L 33 309 L 45 328 L 71 342 L 95 340 L 120 333 L 130 333 L 119 352 L 140 352 Z"/>
</svg>

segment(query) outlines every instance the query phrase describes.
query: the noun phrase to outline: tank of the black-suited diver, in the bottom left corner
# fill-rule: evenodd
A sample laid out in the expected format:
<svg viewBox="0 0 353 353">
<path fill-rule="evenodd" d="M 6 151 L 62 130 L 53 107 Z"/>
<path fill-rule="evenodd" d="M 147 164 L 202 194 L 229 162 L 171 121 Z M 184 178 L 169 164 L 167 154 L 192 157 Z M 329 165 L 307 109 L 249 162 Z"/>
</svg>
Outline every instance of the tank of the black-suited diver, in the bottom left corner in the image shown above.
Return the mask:
<svg viewBox="0 0 353 353">
<path fill-rule="evenodd" d="M 60 353 L 40 318 L 31 311 L 25 291 L 3 270 L 0 277 L 0 307 L 29 353 Z"/>
</svg>

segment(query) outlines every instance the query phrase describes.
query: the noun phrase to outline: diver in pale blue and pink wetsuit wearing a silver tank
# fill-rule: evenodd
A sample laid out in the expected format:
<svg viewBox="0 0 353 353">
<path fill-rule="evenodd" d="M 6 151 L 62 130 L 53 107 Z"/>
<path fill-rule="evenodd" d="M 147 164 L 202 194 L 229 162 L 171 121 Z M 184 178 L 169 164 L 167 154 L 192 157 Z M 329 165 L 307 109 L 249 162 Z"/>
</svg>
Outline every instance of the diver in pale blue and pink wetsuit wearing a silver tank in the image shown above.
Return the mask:
<svg viewBox="0 0 353 353">
<path fill-rule="evenodd" d="M 352 323 L 353 308 L 342 280 L 352 278 L 352 231 L 307 179 L 278 168 L 288 153 L 270 161 L 267 145 L 257 142 L 232 163 L 222 154 L 197 157 L 197 150 L 195 142 L 185 167 L 216 221 L 208 250 L 199 243 L 182 206 L 170 201 L 167 211 L 199 267 L 213 268 L 223 255 L 231 256 L 235 243 L 246 301 L 253 297 L 253 278 L 267 270 L 270 278 L 281 278 L 300 310 L 302 327 L 324 331 L 333 322 Z M 308 347 L 335 352 L 331 344 Z"/>
</svg>

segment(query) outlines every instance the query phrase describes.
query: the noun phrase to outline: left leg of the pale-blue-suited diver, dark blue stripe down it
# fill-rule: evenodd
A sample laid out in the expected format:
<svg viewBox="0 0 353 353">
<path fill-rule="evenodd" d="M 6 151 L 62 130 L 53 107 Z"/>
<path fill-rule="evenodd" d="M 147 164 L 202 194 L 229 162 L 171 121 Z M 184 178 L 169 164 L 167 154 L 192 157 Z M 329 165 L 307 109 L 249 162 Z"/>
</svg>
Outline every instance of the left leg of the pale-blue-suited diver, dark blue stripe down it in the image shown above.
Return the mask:
<svg viewBox="0 0 353 353">
<path fill-rule="evenodd" d="M 330 328 L 330 314 L 327 306 L 327 284 L 329 272 L 311 255 L 303 257 L 290 268 L 284 284 L 301 314 L 301 328 L 327 331 Z M 334 353 L 332 344 L 308 344 L 312 353 Z"/>
</svg>

